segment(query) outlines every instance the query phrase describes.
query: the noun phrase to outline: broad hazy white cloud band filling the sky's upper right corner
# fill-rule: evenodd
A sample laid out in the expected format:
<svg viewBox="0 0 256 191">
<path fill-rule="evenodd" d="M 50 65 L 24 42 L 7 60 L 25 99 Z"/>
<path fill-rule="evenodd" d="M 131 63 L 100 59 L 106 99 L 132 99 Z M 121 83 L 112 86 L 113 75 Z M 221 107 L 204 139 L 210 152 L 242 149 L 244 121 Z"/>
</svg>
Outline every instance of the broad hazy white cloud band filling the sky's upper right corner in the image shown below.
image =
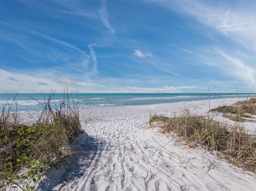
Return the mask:
<svg viewBox="0 0 256 191">
<path fill-rule="evenodd" d="M 189 0 L 145 0 L 153 2 L 171 11 L 189 15 L 199 23 L 211 27 L 222 35 L 237 41 L 245 48 L 256 51 L 256 4 L 250 6 L 248 2 L 234 2 L 231 4 L 217 3 L 217 1 L 189 1 Z M 244 4 L 243 4 L 244 3 Z"/>
</svg>

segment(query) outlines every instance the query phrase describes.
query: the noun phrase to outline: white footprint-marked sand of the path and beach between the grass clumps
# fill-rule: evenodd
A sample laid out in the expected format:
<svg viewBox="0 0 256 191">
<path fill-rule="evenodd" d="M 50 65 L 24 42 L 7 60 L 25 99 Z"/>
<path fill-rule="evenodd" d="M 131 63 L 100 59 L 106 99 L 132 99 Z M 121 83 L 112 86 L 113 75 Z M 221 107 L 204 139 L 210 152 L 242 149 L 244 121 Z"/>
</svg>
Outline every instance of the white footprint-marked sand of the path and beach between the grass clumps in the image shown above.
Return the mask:
<svg viewBox="0 0 256 191">
<path fill-rule="evenodd" d="M 222 101 L 211 100 L 211 107 Z M 229 98 L 223 104 L 236 101 Z M 41 190 L 256 190 L 252 173 L 148 129 L 150 114 L 171 115 L 185 107 L 206 114 L 209 102 L 82 110 L 89 137 L 83 136 L 74 148 L 81 154 L 70 165 L 49 171 Z M 255 131 L 252 123 L 246 128 Z"/>
</svg>

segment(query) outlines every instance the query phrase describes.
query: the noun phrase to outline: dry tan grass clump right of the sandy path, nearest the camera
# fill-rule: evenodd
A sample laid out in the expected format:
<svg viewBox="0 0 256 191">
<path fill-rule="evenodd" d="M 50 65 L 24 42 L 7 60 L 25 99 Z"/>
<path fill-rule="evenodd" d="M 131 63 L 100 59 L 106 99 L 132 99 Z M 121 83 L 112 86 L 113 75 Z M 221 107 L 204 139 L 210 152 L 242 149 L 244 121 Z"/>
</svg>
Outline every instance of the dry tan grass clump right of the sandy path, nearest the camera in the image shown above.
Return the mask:
<svg viewBox="0 0 256 191">
<path fill-rule="evenodd" d="M 256 136 L 247 134 L 239 123 L 231 126 L 186 110 L 172 118 L 151 116 L 149 124 L 163 134 L 173 133 L 190 147 L 219 151 L 230 163 L 256 173 Z"/>
</svg>

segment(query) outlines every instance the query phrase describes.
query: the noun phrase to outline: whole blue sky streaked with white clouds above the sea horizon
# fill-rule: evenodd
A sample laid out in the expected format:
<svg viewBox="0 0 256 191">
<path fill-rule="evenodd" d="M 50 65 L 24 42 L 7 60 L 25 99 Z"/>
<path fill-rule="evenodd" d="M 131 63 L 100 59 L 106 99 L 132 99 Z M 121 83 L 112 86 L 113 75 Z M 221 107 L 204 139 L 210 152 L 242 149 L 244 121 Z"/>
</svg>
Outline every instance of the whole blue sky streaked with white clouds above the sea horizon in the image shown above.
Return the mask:
<svg viewBox="0 0 256 191">
<path fill-rule="evenodd" d="M 1 1 L 0 93 L 246 93 L 255 9 L 247 0 Z"/>
</svg>

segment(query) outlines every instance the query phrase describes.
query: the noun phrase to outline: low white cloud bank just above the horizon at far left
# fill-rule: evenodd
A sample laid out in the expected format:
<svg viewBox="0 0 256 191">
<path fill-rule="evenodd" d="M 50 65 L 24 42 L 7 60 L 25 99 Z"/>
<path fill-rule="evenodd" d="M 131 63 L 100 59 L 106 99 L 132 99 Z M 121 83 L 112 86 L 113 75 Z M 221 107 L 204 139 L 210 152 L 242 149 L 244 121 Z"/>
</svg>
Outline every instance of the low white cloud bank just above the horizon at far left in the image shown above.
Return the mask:
<svg viewBox="0 0 256 191">
<path fill-rule="evenodd" d="M 10 78 L 10 76 L 14 75 L 21 80 L 16 81 L 16 79 Z M 79 78 L 79 81 L 71 79 L 73 76 L 59 77 L 58 73 L 50 70 L 28 73 L 26 71 L 7 71 L 0 69 L 0 76 L 0 84 L 8 84 L 8 86 L 0 86 L 0 93 L 49 93 L 51 90 L 54 92 L 63 92 L 63 89 L 67 86 L 70 92 L 76 92 L 77 89 L 81 92 L 101 92 L 101 88 L 103 87 L 101 84 L 83 77 Z M 17 85 L 17 82 L 20 82 L 20 84 Z M 35 83 L 40 86 L 35 86 Z"/>
</svg>

